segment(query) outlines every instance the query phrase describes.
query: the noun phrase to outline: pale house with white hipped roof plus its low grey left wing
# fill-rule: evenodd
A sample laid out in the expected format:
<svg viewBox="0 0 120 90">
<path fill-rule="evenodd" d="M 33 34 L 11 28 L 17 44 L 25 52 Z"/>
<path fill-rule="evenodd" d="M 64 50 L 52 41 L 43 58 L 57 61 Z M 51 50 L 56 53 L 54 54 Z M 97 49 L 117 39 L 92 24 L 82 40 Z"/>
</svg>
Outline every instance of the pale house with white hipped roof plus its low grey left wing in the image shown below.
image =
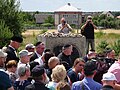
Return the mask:
<svg viewBox="0 0 120 90">
<path fill-rule="evenodd" d="M 55 26 L 60 24 L 60 19 L 64 17 L 66 19 L 66 22 L 70 25 L 80 26 L 83 17 L 82 17 L 82 11 L 74 6 L 72 6 L 70 3 L 68 3 L 65 6 L 60 7 L 59 9 L 55 10 L 51 13 L 39 13 L 35 14 L 35 19 L 37 24 L 43 24 L 45 22 L 45 19 L 48 18 L 48 16 L 52 16 L 55 20 Z M 84 15 L 83 15 L 84 16 Z"/>
</svg>

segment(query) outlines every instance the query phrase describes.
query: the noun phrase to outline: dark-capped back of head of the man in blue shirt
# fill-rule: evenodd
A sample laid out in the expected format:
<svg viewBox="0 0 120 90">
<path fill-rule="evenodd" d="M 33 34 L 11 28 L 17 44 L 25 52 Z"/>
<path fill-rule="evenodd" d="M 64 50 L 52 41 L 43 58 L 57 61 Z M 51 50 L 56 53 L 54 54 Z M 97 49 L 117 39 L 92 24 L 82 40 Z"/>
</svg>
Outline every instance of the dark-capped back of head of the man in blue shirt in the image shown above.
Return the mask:
<svg viewBox="0 0 120 90">
<path fill-rule="evenodd" d="M 91 76 L 94 74 L 94 71 L 97 70 L 96 61 L 90 60 L 85 63 L 84 74 L 86 76 Z"/>
</svg>

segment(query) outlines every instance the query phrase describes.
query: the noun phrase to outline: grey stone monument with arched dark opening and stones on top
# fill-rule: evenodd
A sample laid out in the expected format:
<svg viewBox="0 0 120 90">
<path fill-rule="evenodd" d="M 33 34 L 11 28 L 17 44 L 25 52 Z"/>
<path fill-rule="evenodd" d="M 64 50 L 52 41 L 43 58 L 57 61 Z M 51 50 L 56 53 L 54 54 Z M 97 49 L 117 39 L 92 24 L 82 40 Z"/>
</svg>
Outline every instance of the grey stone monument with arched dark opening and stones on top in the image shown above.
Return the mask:
<svg viewBox="0 0 120 90">
<path fill-rule="evenodd" d="M 62 34 L 62 33 L 44 33 L 38 35 L 38 41 L 45 43 L 46 48 L 50 49 L 57 56 L 62 46 L 65 44 L 73 45 L 72 60 L 85 55 L 85 37 L 81 34 Z"/>
</svg>

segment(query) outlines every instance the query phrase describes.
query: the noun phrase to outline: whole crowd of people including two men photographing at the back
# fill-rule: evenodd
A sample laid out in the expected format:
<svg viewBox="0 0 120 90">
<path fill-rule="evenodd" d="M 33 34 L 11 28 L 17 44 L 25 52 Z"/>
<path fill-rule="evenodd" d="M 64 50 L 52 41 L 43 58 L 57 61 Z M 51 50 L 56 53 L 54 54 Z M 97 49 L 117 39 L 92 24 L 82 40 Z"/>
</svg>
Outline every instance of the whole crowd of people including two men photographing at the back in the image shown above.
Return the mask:
<svg viewBox="0 0 120 90">
<path fill-rule="evenodd" d="M 96 28 L 91 19 L 89 16 L 82 29 L 88 22 L 91 29 Z M 60 33 L 72 30 L 64 18 L 61 22 Z M 94 37 L 87 39 L 92 49 L 86 45 L 86 55 L 72 60 L 71 44 L 63 45 L 58 56 L 40 41 L 17 53 L 23 38 L 13 36 L 10 44 L 0 49 L 0 90 L 120 90 L 120 55 L 116 59 L 110 48 L 97 54 Z"/>
</svg>

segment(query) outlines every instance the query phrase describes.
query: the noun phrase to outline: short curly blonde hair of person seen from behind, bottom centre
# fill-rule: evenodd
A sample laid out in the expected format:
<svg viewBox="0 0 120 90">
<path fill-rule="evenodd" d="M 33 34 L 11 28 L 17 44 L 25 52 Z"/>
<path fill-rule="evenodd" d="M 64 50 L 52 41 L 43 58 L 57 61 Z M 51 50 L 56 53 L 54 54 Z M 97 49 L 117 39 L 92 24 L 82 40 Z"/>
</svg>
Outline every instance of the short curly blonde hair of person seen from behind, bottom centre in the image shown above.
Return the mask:
<svg viewBox="0 0 120 90">
<path fill-rule="evenodd" d="M 52 69 L 52 74 L 51 74 L 52 81 L 55 82 L 64 81 L 65 77 L 66 77 L 66 69 L 63 65 L 57 65 L 54 69 Z"/>
</svg>

